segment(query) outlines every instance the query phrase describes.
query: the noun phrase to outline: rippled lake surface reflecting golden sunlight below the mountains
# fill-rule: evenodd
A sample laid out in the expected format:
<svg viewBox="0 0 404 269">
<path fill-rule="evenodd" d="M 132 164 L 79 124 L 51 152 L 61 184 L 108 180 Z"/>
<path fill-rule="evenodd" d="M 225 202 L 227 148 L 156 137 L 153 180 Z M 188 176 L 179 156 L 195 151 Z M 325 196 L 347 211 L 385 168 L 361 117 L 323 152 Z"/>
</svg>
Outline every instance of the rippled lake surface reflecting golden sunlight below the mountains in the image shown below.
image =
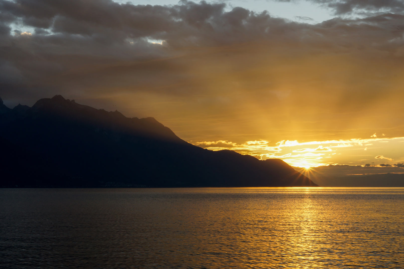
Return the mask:
<svg viewBox="0 0 404 269">
<path fill-rule="evenodd" d="M 404 268 L 404 188 L 0 189 L 0 268 Z"/>
</svg>

